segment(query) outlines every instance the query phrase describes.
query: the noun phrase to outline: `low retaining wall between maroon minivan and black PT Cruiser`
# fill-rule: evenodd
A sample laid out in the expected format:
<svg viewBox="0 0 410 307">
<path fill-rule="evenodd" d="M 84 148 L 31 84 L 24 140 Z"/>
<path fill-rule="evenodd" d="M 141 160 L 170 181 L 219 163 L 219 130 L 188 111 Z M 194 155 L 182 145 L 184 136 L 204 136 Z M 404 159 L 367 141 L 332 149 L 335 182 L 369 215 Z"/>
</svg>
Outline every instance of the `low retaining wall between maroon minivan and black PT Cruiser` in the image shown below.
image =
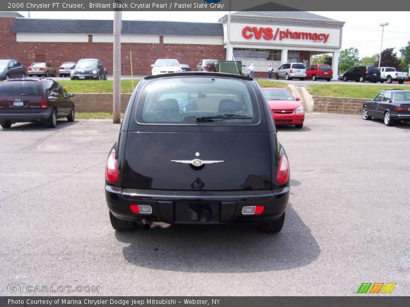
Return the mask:
<svg viewBox="0 0 410 307">
<path fill-rule="evenodd" d="M 121 94 L 121 112 L 125 111 L 131 94 Z M 75 94 L 75 112 L 112 112 L 113 94 Z"/>
</svg>

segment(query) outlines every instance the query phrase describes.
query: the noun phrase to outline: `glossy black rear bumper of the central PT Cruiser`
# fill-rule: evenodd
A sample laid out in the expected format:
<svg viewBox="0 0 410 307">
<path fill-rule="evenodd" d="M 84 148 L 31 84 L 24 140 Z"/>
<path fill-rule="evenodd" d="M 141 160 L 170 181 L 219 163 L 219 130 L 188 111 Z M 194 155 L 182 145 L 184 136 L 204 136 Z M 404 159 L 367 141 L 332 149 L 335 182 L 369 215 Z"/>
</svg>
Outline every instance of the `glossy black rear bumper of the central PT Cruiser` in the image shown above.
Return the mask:
<svg viewBox="0 0 410 307">
<path fill-rule="evenodd" d="M 137 222 L 146 219 L 168 224 L 273 221 L 286 210 L 289 190 L 289 187 L 283 187 L 274 190 L 249 191 L 166 191 L 105 186 L 108 209 L 114 216 L 127 221 Z M 130 210 L 132 204 L 149 205 L 152 207 L 152 213 L 133 213 Z M 262 214 L 242 214 L 244 206 L 259 205 L 265 206 Z M 181 212 L 181 210 L 192 212 Z M 210 212 L 203 212 L 207 210 Z M 203 215 L 205 218 L 200 218 L 201 214 L 206 214 Z M 189 217 L 192 215 L 196 216 Z M 185 218 L 181 218 L 181 216 L 185 216 Z M 207 219 L 208 216 L 214 217 Z"/>
</svg>

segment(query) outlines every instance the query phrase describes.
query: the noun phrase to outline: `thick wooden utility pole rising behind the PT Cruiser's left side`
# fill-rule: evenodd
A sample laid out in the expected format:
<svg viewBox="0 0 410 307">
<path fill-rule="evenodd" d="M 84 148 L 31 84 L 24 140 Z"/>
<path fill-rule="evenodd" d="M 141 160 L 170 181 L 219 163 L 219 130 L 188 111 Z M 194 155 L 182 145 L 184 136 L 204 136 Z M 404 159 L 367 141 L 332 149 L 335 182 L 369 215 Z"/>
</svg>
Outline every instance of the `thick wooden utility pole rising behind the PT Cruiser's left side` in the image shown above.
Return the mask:
<svg viewBox="0 0 410 307">
<path fill-rule="evenodd" d="M 121 10 L 114 11 L 112 122 L 121 122 Z"/>
</svg>

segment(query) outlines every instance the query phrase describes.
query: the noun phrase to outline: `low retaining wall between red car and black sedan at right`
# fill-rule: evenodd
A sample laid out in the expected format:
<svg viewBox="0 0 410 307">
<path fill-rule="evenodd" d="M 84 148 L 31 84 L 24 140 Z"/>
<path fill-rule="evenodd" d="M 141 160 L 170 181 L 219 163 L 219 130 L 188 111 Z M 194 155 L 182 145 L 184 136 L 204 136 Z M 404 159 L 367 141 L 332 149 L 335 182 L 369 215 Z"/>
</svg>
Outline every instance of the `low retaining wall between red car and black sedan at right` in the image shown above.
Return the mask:
<svg viewBox="0 0 410 307">
<path fill-rule="evenodd" d="M 316 112 L 360 114 L 362 103 L 370 101 L 362 98 L 313 97 Z"/>
</svg>

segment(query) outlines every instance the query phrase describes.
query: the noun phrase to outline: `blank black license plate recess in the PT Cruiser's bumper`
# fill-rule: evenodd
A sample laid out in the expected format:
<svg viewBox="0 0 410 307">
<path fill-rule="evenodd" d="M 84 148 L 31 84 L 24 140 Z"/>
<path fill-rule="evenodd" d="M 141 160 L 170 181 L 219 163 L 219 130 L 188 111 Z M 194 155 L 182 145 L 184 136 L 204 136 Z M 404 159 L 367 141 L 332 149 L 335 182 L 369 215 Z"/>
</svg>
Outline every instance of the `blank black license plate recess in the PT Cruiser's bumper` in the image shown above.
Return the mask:
<svg viewBox="0 0 410 307">
<path fill-rule="evenodd" d="M 175 202 L 176 223 L 219 223 L 218 202 Z"/>
</svg>

